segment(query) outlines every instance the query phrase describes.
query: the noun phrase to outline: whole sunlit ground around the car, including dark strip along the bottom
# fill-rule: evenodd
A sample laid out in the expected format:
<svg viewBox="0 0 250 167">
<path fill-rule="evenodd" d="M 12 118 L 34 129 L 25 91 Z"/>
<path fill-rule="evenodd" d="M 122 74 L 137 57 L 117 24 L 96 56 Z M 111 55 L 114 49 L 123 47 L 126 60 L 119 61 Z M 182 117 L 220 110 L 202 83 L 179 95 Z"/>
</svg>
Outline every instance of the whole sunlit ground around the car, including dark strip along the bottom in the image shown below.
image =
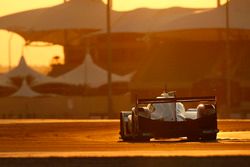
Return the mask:
<svg viewBox="0 0 250 167">
<path fill-rule="evenodd" d="M 128 143 L 119 139 L 118 120 L 1 120 L 0 166 L 250 166 L 250 120 L 218 126 L 212 142 Z"/>
</svg>

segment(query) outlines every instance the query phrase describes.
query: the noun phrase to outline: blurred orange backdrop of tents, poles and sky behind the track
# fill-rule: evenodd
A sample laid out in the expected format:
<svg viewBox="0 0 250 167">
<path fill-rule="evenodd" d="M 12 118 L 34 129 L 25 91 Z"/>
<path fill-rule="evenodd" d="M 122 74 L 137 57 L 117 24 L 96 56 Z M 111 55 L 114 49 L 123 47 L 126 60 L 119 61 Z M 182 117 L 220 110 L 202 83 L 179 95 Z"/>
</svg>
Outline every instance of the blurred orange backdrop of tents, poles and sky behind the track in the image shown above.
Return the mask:
<svg viewBox="0 0 250 167">
<path fill-rule="evenodd" d="M 118 118 L 165 89 L 250 118 L 249 0 L 0 6 L 0 118 Z"/>
</svg>

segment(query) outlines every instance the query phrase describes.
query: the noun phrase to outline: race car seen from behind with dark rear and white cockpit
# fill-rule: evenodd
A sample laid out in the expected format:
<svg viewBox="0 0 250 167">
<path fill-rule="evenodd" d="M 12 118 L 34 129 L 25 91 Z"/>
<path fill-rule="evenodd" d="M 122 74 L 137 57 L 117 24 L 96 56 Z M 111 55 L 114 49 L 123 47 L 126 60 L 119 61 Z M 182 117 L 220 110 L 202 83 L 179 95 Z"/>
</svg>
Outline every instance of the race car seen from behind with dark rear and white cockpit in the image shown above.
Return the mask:
<svg viewBox="0 0 250 167">
<path fill-rule="evenodd" d="M 157 108 L 163 109 L 167 118 L 153 117 Z M 178 137 L 208 141 L 216 140 L 218 132 L 215 96 L 137 99 L 132 111 L 120 112 L 120 138 L 123 141 Z"/>
</svg>

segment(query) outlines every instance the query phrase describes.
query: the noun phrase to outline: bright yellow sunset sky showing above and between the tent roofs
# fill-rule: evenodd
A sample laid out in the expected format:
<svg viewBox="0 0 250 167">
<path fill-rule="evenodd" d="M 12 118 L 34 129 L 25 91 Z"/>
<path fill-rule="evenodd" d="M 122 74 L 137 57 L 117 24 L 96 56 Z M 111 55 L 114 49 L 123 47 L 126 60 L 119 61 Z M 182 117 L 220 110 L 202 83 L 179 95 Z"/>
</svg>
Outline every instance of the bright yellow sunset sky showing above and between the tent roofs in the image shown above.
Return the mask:
<svg viewBox="0 0 250 167">
<path fill-rule="evenodd" d="M 106 1 L 106 0 L 103 0 Z M 221 0 L 224 3 L 226 0 Z M 157 3 L 156 3 L 157 2 Z M 63 0 L 1 0 L 0 16 L 16 13 L 24 10 L 53 6 L 63 3 Z M 173 6 L 207 8 L 216 7 L 217 0 L 113 0 L 115 10 L 131 10 L 139 7 L 168 8 Z M 10 34 L 0 30 L 0 66 L 8 66 L 8 51 Z M 11 66 L 15 66 L 21 56 L 24 40 L 19 35 L 13 34 L 11 38 Z M 24 55 L 29 65 L 49 66 L 51 58 L 55 55 L 63 57 L 61 46 L 43 48 L 25 47 Z"/>
</svg>

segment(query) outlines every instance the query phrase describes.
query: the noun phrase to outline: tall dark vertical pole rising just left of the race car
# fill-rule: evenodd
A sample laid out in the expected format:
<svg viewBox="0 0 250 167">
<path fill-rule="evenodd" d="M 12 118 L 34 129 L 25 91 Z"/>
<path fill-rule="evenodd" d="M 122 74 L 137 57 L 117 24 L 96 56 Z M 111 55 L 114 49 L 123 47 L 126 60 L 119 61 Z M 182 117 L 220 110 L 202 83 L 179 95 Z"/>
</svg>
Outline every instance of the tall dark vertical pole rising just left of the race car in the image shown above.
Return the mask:
<svg viewBox="0 0 250 167">
<path fill-rule="evenodd" d="M 112 46 L 111 46 L 111 9 L 112 0 L 107 0 L 107 64 L 108 64 L 108 113 L 110 117 L 114 116 L 112 101 Z"/>
</svg>

